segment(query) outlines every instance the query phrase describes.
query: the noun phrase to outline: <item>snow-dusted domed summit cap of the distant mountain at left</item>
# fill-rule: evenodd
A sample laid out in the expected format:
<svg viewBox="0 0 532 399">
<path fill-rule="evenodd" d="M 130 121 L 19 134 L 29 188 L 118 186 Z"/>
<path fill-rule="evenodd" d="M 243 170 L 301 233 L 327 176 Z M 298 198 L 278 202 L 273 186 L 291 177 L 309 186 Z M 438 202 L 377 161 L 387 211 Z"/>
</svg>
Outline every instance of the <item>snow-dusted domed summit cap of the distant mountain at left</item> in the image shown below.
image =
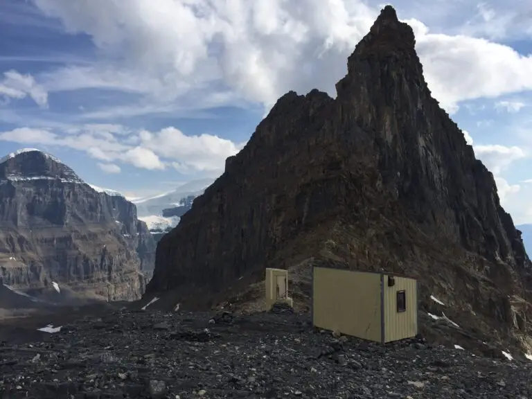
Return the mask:
<svg viewBox="0 0 532 399">
<path fill-rule="evenodd" d="M 82 182 L 60 159 L 35 148 L 17 150 L 0 159 L 0 179 L 10 181 L 62 179 Z"/>
</svg>

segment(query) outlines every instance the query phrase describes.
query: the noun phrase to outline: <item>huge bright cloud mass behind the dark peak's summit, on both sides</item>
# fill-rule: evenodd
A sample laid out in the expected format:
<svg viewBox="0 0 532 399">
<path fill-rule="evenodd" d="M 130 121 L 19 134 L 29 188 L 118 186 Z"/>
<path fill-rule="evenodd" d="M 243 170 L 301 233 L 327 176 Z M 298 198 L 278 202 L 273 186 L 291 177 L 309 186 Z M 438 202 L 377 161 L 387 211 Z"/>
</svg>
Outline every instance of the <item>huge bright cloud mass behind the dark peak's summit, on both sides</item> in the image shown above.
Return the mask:
<svg viewBox="0 0 532 399">
<path fill-rule="evenodd" d="M 346 57 L 378 8 L 359 0 L 35 0 L 67 31 L 87 33 L 109 57 L 91 67 L 47 73 L 51 89 L 110 87 L 159 100 L 231 92 L 272 105 L 285 91 L 317 87 L 335 96 Z M 490 11 L 479 8 L 486 23 Z M 404 15 L 403 17 L 408 17 Z M 486 19 L 488 18 L 488 19 Z M 454 112 L 459 102 L 532 89 L 532 55 L 465 35 L 431 33 L 421 21 L 417 50 L 434 96 Z M 194 32 L 194 35 L 190 35 Z M 121 60 L 118 61 L 117 60 Z"/>
</svg>

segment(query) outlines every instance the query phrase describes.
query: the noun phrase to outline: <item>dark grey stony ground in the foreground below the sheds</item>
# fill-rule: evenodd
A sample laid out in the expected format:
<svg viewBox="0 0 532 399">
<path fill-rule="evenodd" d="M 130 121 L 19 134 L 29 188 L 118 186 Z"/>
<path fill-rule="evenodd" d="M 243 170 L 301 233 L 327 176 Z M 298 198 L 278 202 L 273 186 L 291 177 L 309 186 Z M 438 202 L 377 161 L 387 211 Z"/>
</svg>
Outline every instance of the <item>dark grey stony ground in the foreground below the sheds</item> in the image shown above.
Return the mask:
<svg viewBox="0 0 532 399">
<path fill-rule="evenodd" d="M 532 398 L 532 362 L 333 337 L 290 312 L 107 309 L 22 335 L 0 335 L 1 398 Z"/>
</svg>

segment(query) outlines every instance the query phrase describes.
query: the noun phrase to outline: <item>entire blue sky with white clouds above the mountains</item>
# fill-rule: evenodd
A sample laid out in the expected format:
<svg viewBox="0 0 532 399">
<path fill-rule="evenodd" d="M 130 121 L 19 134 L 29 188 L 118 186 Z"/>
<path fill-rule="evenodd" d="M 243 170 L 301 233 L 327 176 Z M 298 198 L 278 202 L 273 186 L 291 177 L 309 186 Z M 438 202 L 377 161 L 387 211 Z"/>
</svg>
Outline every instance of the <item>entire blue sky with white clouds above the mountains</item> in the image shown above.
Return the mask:
<svg viewBox="0 0 532 399">
<path fill-rule="evenodd" d="M 383 5 L 2 0 L 0 152 L 46 150 L 89 183 L 130 196 L 216 177 L 286 91 L 335 96 Z M 392 5 L 505 209 L 532 222 L 532 6 Z"/>
</svg>

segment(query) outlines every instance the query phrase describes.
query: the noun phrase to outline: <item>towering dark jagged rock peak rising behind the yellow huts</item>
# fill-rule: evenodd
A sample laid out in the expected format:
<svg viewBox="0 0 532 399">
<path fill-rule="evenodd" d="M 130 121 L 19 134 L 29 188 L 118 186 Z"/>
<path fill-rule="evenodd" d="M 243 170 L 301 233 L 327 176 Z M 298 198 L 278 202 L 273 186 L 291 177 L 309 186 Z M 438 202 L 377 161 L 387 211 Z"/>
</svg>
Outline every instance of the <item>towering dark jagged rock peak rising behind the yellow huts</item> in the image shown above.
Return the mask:
<svg viewBox="0 0 532 399">
<path fill-rule="evenodd" d="M 205 307 L 240 278 L 284 267 L 303 301 L 310 266 L 334 262 L 418 278 L 421 308 L 434 294 L 456 323 L 526 339 L 530 260 L 493 175 L 432 98 L 414 44 L 387 6 L 336 99 L 281 97 L 161 239 L 147 294 Z"/>
</svg>

